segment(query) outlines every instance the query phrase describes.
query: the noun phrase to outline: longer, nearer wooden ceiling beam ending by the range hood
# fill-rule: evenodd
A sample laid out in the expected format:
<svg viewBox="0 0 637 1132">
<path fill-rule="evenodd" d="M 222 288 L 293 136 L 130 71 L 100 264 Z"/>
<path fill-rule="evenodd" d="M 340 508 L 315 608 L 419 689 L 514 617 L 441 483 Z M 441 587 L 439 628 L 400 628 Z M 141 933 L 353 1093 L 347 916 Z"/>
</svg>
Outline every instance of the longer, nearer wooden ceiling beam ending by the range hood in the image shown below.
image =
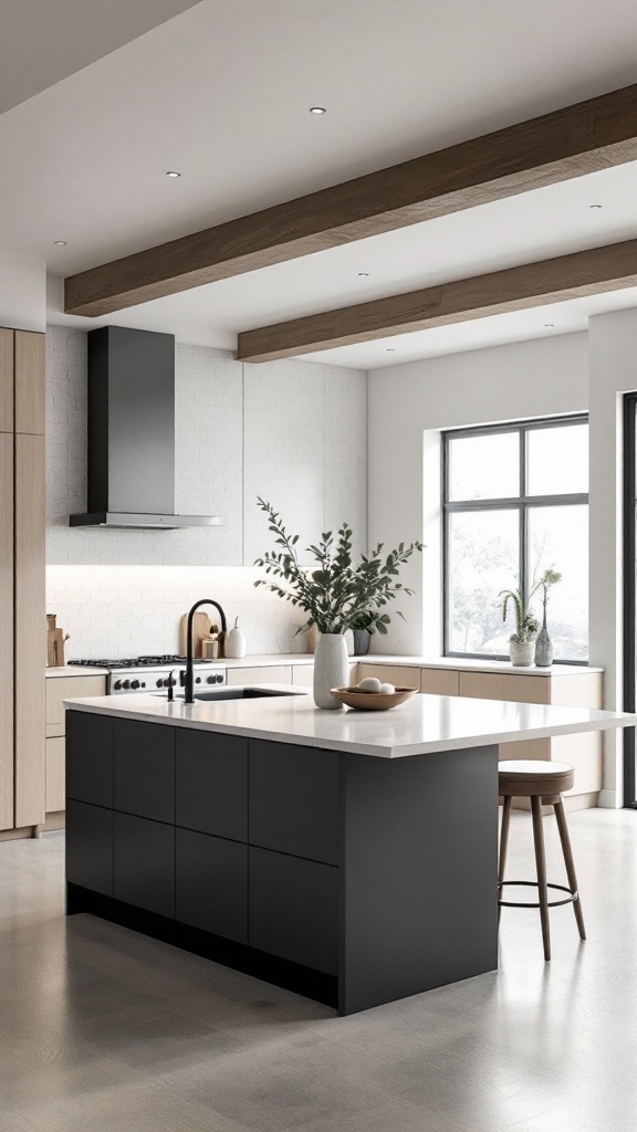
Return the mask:
<svg viewBox="0 0 637 1132">
<path fill-rule="evenodd" d="M 65 281 L 96 317 L 637 160 L 637 85 L 171 240 Z"/>
</svg>

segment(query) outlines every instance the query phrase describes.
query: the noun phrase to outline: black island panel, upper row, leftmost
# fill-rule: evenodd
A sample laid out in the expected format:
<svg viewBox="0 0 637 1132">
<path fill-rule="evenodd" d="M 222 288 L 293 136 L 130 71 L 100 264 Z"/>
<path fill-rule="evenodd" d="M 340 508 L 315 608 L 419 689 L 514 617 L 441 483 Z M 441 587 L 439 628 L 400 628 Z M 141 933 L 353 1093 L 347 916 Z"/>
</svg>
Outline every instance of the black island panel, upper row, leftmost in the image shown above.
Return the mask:
<svg viewBox="0 0 637 1132">
<path fill-rule="evenodd" d="M 67 711 L 67 797 L 94 806 L 113 804 L 113 721 Z"/>
</svg>

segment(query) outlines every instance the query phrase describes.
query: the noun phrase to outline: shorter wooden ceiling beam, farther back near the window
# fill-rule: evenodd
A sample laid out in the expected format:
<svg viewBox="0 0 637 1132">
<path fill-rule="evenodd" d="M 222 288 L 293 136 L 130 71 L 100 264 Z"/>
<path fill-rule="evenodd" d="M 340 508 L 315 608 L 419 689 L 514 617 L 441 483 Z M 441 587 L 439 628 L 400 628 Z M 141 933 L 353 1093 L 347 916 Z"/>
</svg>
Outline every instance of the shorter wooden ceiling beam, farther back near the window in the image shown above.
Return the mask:
<svg viewBox="0 0 637 1132">
<path fill-rule="evenodd" d="M 238 336 L 238 357 L 296 358 L 629 286 L 637 286 L 637 240 L 245 331 Z"/>
</svg>

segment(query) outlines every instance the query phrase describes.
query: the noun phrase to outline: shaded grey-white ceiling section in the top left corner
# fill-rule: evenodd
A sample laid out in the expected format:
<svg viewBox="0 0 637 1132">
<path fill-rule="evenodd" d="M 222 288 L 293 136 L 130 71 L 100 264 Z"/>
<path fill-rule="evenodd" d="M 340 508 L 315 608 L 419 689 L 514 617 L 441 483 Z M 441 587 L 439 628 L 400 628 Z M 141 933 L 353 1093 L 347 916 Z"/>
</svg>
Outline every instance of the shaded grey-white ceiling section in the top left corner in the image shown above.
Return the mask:
<svg viewBox="0 0 637 1132">
<path fill-rule="evenodd" d="M 0 114 L 198 0 L 2 0 Z"/>
</svg>

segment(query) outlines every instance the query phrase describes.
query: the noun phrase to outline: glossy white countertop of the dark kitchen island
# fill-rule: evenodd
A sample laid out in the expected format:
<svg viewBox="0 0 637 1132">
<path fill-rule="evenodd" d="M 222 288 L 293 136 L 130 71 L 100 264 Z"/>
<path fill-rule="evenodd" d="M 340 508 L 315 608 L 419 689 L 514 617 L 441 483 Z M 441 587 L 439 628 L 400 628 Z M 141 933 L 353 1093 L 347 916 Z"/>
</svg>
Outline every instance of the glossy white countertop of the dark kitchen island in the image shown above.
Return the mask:
<svg viewBox="0 0 637 1132">
<path fill-rule="evenodd" d="M 263 685 L 290 691 L 288 685 Z M 162 696 L 91 696 L 65 701 L 71 711 L 243 735 L 353 754 L 398 758 L 518 739 L 634 727 L 637 715 L 417 694 L 385 712 L 322 711 L 307 694 L 263 700 L 199 702 Z"/>
</svg>

